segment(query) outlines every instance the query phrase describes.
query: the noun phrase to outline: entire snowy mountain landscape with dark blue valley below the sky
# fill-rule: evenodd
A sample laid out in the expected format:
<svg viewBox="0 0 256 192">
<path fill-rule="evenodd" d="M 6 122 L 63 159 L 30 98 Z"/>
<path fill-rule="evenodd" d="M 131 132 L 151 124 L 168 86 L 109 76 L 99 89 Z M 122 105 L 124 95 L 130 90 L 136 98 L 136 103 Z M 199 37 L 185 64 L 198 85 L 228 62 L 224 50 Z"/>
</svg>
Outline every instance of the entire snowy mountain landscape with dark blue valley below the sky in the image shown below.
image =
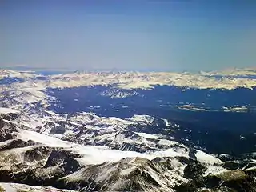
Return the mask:
<svg viewBox="0 0 256 192">
<path fill-rule="evenodd" d="M 0 191 L 256 191 L 256 70 L 0 70 Z"/>
</svg>

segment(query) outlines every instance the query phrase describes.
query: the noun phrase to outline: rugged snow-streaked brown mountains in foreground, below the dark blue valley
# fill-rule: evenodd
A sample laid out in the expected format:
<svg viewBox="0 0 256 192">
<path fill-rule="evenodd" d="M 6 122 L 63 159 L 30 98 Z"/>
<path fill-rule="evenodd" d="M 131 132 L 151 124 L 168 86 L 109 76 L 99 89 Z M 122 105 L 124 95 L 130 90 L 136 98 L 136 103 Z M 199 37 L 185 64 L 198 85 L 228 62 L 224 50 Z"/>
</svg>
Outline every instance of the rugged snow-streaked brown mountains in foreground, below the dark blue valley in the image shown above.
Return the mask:
<svg viewBox="0 0 256 192">
<path fill-rule="evenodd" d="M 38 126 L 32 125 L 34 121 L 28 121 L 28 117 L 23 117 L 24 114 L 18 111 L 6 108 L 1 108 L 1 111 L 1 182 L 80 191 L 174 191 L 185 184 L 190 185 L 195 178 L 212 183 L 208 179 L 213 177 L 220 178 L 213 187 L 230 185 L 222 174 L 229 174 L 228 163 L 232 162 L 222 162 L 161 135 L 133 131 L 127 134 L 130 126 L 139 123 L 134 118 L 122 120 L 78 114 L 62 122 L 69 125 L 66 129 L 62 124 L 67 131 L 65 135 L 50 133 L 53 127 L 60 125 L 60 119 L 67 118 L 65 115 L 51 114 L 48 118 L 44 117 L 45 122 L 38 118 L 38 122 L 42 122 L 38 129 Z M 25 118 L 26 123 L 21 121 Z M 30 118 L 33 119 L 32 116 Z M 50 121 L 50 118 L 53 119 Z M 85 133 L 81 134 L 82 130 Z M 69 138 L 72 134 L 76 136 Z M 120 143 L 137 146 L 141 151 L 117 149 Z M 252 186 L 246 187 L 254 187 L 252 176 L 255 165 L 256 162 L 251 160 L 243 170 L 234 172 L 242 174 L 242 182 L 250 181 Z M 207 182 L 205 186 L 209 184 Z"/>
</svg>

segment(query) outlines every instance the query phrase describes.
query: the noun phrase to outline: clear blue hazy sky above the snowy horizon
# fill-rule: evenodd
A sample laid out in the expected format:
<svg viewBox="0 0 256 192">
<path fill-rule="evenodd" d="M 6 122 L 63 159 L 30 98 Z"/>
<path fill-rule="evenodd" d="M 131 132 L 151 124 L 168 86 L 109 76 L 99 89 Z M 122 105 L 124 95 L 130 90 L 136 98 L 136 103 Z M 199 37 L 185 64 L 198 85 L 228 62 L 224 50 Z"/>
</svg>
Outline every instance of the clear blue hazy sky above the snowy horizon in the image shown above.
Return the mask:
<svg viewBox="0 0 256 192">
<path fill-rule="evenodd" d="M 0 67 L 256 66 L 254 0 L 1 0 Z"/>
</svg>

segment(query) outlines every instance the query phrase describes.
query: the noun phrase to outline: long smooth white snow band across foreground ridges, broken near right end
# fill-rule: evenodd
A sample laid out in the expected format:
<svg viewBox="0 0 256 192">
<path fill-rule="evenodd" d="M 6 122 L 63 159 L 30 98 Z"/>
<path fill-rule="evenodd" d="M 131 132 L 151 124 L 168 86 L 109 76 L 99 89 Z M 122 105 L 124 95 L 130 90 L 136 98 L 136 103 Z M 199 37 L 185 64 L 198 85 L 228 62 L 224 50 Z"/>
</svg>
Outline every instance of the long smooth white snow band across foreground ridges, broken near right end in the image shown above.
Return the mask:
<svg viewBox="0 0 256 192">
<path fill-rule="evenodd" d="M 64 150 L 71 150 L 74 153 L 82 154 L 83 158 L 79 161 L 88 164 L 101 164 L 103 162 L 118 162 L 122 158 L 147 158 L 154 159 L 157 157 L 175 157 L 183 156 L 189 157 L 186 149 L 181 148 L 176 150 L 175 148 L 170 148 L 168 150 L 158 150 L 149 153 L 138 153 L 134 151 L 122 151 L 122 150 L 110 150 L 107 146 L 82 146 L 74 144 L 72 142 L 62 141 L 61 139 L 50 137 L 44 134 L 38 134 L 30 130 L 18 130 L 18 138 L 22 140 L 33 140 L 34 142 L 40 142 L 46 146 L 51 147 L 63 147 Z M 218 158 L 211 157 L 208 154 L 203 153 L 202 151 L 197 151 L 196 154 L 199 160 L 208 163 L 221 163 Z"/>
</svg>

